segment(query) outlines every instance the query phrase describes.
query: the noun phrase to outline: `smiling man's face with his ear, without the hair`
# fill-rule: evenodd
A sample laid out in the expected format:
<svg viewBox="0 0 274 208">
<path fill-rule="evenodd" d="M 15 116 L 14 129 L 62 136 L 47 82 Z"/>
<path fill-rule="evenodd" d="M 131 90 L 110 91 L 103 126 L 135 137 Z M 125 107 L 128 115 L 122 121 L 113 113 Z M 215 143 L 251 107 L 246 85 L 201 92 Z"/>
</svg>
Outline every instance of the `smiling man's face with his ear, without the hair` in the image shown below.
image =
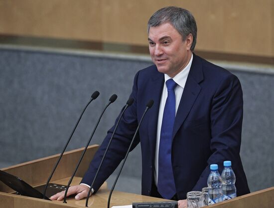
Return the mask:
<svg viewBox="0 0 274 208">
<path fill-rule="evenodd" d="M 170 77 L 178 74 L 191 58 L 192 34 L 183 41 L 180 33 L 170 23 L 150 27 L 148 42 L 151 59 L 158 71 Z"/>
</svg>

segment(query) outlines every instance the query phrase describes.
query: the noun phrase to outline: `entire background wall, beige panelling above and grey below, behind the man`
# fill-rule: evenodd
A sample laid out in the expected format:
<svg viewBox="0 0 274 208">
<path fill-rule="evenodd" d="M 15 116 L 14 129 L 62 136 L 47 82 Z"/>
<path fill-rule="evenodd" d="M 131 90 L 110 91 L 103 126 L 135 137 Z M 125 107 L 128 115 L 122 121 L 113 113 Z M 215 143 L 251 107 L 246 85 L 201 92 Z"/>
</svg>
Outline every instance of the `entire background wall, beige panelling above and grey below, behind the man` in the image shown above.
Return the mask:
<svg viewBox="0 0 274 208">
<path fill-rule="evenodd" d="M 68 149 L 86 144 L 100 111 L 117 93 L 91 142 L 100 144 L 130 95 L 135 73 L 151 64 L 147 20 L 167 5 L 195 16 L 195 52 L 223 60 L 217 64 L 239 77 L 241 157 L 249 185 L 251 191 L 274 186 L 274 0 L 0 0 L 0 168 L 59 153 L 95 90 L 100 97 Z M 118 190 L 140 193 L 139 158 L 137 146 Z"/>
</svg>

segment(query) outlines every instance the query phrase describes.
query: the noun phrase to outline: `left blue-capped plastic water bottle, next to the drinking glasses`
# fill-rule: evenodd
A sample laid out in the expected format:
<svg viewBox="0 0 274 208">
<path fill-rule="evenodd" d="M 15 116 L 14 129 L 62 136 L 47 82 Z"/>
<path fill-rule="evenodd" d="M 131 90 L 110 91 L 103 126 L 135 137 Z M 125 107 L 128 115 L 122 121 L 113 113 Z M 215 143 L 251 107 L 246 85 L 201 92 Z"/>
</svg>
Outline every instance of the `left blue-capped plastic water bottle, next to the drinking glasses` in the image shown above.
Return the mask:
<svg viewBox="0 0 274 208">
<path fill-rule="evenodd" d="M 208 191 L 208 205 L 222 202 L 222 179 L 218 172 L 218 165 L 210 165 L 210 174 L 207 179 Z"/>
</svg>

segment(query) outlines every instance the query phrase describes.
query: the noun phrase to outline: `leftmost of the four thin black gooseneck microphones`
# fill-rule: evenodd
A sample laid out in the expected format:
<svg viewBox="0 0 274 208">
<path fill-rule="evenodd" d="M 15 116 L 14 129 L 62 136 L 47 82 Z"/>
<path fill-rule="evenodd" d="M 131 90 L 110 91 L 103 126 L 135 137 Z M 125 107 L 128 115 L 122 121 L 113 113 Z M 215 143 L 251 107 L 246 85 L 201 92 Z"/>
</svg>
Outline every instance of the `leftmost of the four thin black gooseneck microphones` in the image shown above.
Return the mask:
<svg viewBox="0 0 274 208">
<path fill-rule="evenodd" d="M 75 124 L 75 126 L 74 126 L 74 128 L 73 128 L 73 130 L 72 130 L 72 132 L 71 132 L 71 134 L 70 134 L 70 137 L 69 137 L 69 139 L 68 139 L 68 141 L 67 141 L 67 143 L 66 143 L 66 145 L 65 145 L 65 147 L 64 147 L 64 149 L 63 149 L 63 151 L 62 151 L 62 153 L 60 154 L 60 156 L 59 156 L 59 158 L 58 158 L 58 160 L 57 160 L 57 162 L 56 162 L 56 164 L 55 164 L 55 166 L 54 166 L 54 168 L 53 168 L 53 170 L 52 170 L 50 176 L 48 177 L 47 183 L 46 183 L 46 185 L 45 185 L 44 193 L 43 193 L 43 199 L 45 199 L 45 197 L 46 197 L 46 191 L 47 191 L 47 187 L 48 187 L 49 181 L 51 180 L 51 178 L 52 178 L 52 176 L 53 176 L 53 173 L 55 172 L 55 170 L 56 170 L 56 168 L 57 168 L 57 166 L 58 166 L 58 164 L 59 164 L 59 162 L 60 162 L 60 160 L 61 160 L 61 158 L 62 158 L 62 156 L 63 156 L 63 154 L 64 154 L 64 152 L 65 152 L 65 150 L 66 150 L 66 148 L 67 148 L 67 146 L 68 146 L 68 143 L 70 142 L 70 139 L 71 139 L 72 135 L 74 134 L 74 131 L 75 131 L 76 127 L 77 127 L 78 124 L 79 124 L 79 121 L 80 121 L 81 118 L 82 118 L 82 115 L 84 114 L 86 108 L 87 108 L 88 105 L 91 103 L 91 101 L 95 100 L 95 99 L 99 96 L 99 94 L 100 94 L 100 93 L 99 93 L 98 91 L 95 91 L 95 92 L 91 95 L 90 101 L 88 102 L 88 104 L 86 105 L 86 107 L 85 107 L 84 110 L 82 111 L 82 113 L 81 113 L 81 115 L 80 115 L 78 121 L 76 122 L 76 124 Z"/>
</svg>

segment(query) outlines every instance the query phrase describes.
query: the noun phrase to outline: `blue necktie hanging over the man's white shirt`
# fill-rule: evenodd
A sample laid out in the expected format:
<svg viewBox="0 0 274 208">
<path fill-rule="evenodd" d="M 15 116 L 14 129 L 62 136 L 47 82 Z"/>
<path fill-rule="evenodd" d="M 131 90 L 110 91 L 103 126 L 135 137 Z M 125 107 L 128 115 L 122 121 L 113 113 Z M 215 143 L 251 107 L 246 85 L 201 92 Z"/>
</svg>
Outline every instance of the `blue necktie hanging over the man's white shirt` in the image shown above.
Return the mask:
<svg viewBox="0 0 274 208">
<path fill-rule="evenodd" d="M 175 120 L 175 92 L 177 85 L 173 79 L 166 82 L 167 98 L 165 101 L 163 119 L 160 134 L 159 158 L 158 158 L 158 184 L 159 194 L 164 199 L 171 199 L 176 194 L 172 165 L 171 165 L 171 144 L 172 131 Z"/>
</svg>

